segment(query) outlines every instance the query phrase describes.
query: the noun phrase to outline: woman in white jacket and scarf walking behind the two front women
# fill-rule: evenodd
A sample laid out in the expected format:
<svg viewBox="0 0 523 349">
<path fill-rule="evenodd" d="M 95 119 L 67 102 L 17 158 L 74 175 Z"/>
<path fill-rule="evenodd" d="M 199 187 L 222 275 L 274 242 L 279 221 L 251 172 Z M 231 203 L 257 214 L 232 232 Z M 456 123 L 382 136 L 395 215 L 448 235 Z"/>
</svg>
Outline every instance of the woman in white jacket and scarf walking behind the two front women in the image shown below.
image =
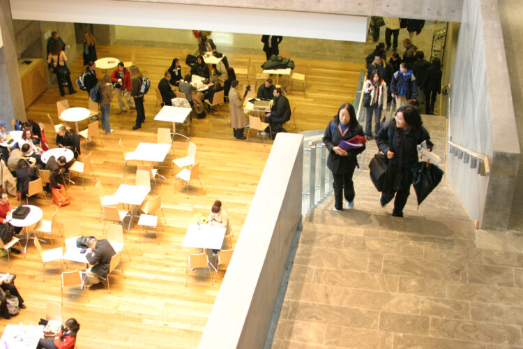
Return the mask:
<svg viewBox="0 0 523 349">
<path fill-rule="evenodd" d="M 372 113 L 374 113 L 374 135 L 377 135 L 380 126 L 381 111 L 387 107 L 387 84 L 377 70 L 369 74 L 363 87 L 365 94 L 370 94 L 370 103 L 367 109 L 365 122 L 365 136 L 372 140 Z"/>
</svg>

